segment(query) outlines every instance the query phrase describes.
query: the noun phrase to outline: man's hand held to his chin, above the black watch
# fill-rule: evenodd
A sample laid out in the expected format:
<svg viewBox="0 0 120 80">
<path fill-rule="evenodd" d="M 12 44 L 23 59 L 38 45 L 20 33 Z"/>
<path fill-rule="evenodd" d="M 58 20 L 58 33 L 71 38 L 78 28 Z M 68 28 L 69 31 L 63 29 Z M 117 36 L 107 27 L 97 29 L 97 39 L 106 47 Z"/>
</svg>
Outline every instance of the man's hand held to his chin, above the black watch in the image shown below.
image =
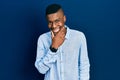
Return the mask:
<svg viewBox="0 0 120 80">
<path fill-rule="evenodd" d="M 54 36 L 52 33 L 52 47 L 57 49 L 60 45 L 63 44 L 65 40 L 66 28 L 62 27 L 62 29 Z"/>
</svg>

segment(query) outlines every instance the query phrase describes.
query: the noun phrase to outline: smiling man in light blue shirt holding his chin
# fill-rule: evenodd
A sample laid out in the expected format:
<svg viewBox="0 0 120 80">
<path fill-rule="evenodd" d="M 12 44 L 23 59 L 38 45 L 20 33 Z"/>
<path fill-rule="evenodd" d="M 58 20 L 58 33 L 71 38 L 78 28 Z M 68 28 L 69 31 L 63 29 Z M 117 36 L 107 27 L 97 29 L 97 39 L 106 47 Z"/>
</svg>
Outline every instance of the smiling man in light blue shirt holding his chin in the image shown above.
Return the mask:
<svg viewBox="0 0 120 80">
<path fill-rule="evenodd" d="M 35 66 L 44 80 L 89 80 L 89 59 L 84 34 L 65 25 L 58 4 L 46 8 L 50 32 L 40 35 Z"/>
</svg>

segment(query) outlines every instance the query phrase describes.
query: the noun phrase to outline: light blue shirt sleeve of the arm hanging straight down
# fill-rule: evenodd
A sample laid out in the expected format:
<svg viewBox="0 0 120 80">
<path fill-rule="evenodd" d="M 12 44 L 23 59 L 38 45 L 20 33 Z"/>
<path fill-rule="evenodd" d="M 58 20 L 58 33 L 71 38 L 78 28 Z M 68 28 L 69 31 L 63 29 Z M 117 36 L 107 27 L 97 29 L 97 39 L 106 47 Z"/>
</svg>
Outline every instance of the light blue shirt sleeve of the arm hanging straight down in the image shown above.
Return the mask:
<svg viewBox="0 0 120 80">
<path fill-rule="evenodd" d="M 89 80 L 90 63 L 88 59 L 88 51 L 85 35 L 82 33 L 80 47 L 80 80 Z"/>
</svg>

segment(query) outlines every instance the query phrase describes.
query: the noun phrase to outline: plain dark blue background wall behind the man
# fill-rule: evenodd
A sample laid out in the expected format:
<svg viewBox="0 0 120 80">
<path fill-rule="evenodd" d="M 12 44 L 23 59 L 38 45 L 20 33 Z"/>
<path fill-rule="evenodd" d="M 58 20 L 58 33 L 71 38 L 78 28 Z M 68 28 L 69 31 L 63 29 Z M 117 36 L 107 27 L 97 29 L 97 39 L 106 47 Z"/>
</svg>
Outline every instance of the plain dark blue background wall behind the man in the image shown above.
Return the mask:
<svg viewBox="0 0 120 80">
<path fill-rule="evenodd" d="M 120 80 L 119 0 L 0 0 L 0 80 L 43 80 L 34 62 L 51 3 L 61 4 L 66 24 L 86 35 L 91 80 Z"/>
</svg>

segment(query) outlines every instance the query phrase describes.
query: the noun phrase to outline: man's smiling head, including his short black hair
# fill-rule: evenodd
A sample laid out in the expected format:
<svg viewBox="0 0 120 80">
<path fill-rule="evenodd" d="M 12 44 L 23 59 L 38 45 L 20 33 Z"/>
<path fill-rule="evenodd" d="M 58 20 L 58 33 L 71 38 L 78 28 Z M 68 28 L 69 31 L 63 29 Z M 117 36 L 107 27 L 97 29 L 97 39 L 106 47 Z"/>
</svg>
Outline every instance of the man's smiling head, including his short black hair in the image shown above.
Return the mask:
<svg viewBox="0 0 120 80">
<path fill-rule="evenodd" d="M 48 27 L 54 34 L 58 33 L 66 22 L 63 9 L 58 4 L 52 4 L 46 8 L 46 18 Z"/>
</svg>

